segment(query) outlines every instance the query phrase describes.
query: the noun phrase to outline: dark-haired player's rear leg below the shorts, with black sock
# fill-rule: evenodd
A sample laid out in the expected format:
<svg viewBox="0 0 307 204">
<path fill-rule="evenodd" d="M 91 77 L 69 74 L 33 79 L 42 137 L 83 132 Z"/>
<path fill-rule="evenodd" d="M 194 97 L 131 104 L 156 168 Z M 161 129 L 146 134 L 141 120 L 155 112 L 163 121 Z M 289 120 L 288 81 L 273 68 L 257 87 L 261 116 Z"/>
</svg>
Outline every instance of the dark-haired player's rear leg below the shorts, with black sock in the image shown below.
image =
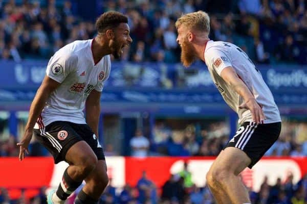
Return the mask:
<svg viewBox="0 0 307 204">
<path fill-rule="evenodd" d="M 98 199 L 108 184 L 105 160 L 98 160 L 95 170 L 86 177 L 85 183 L 75 199 L 75 204 L 98 203 Z"/>
</svg>

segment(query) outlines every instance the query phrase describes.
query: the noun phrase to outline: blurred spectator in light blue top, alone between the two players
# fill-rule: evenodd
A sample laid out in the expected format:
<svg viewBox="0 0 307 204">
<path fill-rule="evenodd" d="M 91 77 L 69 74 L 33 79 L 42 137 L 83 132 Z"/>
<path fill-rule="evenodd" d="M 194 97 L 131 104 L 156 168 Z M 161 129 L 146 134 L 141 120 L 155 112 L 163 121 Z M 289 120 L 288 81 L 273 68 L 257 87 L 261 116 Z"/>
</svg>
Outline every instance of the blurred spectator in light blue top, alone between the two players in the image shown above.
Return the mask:
<svg viewBox="0 0 307 204">
<path fill-rule="evenodd" d="M 130 140 L 131 156 L 146 157 L 149 149 L 149 140 L 143 136 L 141 130 L 137 130 L 136 134 Z"/>
</svg>

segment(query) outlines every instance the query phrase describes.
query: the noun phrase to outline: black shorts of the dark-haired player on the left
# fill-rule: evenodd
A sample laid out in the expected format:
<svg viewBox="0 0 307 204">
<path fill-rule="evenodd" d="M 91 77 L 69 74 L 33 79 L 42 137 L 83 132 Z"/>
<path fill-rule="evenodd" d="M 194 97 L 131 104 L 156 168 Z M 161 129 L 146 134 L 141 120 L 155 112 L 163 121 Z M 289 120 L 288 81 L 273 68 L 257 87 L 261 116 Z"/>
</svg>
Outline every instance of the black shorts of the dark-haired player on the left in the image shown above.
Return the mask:
<svg viewBox="0 0 307 204">
<path fill-rule="evenodd" d="M 85 141 L 93 149 L 98 160 L 105 160 L 97 137 L 87 124 L 55 121 L 33 131 L 36 139 L 53 155 L 54 163 L 65 161 L 67 151 L 79 141 Z"/>
</svg>

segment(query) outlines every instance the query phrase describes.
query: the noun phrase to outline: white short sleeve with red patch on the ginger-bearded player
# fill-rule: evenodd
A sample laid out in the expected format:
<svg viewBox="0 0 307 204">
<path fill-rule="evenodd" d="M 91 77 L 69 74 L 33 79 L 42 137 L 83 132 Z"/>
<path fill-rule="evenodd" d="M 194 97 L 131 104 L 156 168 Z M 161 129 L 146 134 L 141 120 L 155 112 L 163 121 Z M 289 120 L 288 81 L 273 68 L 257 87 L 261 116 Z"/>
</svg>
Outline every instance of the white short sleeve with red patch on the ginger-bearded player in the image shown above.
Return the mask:
<svg viewBox="0 0 307 204">
<path fill-rule="evenodd" d="M 218 75 L 221 75 L 226 67 L 232 66 L 229 57 L 221 50 L 211 48 L 205 53 L 205 57 L 208 66 L 211 66 Z"/>
</svg>

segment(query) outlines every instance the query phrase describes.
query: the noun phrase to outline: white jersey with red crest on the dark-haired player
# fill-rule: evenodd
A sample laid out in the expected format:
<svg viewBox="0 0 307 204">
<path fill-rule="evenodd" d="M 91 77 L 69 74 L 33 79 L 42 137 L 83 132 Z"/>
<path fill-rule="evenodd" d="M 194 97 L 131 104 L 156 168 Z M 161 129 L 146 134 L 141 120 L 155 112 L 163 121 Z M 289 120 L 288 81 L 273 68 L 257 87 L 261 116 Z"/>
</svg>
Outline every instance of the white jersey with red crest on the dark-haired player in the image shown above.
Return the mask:
<svg viewBox="0 0 307 204">
<path fill-rule="evenodd" d="M 51 57 L 46 74 L 61 84 L 50 94 L 34 129 L 59 120 L 86 123 L 86 98 L 93 89 L 102 91 L 111 70 L 109 55 L 94 63 L 92 42 L 93 39 L 74 41 Z"/>
</svg>

